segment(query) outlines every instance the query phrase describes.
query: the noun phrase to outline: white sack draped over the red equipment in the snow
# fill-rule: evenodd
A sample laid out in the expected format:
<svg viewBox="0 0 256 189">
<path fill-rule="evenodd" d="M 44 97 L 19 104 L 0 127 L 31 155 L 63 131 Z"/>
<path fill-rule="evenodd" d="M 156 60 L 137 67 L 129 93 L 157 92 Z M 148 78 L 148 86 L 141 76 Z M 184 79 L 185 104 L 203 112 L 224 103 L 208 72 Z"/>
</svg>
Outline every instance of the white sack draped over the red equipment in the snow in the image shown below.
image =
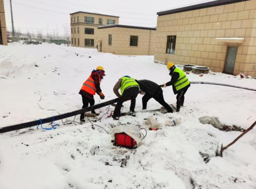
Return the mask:
<svg viewBox="0 0 256 189">
<path fill-rule="evenodd" d="M 131 138 L 133 138 L 138 146 L 140 145 L 142 141 L 142 134 L 140 132 L 140 129 L 133 125 L 125 125 L 125 126 L 118 126 L 111 129 L 112 137 L 115 137 L 116 133 L 124 132 L 125 134 L 128 134 Z"/>
</svg>

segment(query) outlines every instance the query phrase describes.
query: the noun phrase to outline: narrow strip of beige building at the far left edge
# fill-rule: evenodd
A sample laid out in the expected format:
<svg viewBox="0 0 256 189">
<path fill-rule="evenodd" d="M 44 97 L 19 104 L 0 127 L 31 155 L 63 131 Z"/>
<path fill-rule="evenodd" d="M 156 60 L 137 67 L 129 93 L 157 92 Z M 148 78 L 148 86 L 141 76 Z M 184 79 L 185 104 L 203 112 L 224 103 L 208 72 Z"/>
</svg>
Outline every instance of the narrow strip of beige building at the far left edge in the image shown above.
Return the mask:
<svg viewBox="0 0 256 189">
<path fill-rule="evenodd" d="M 0 45 L 7 45 L 6 17 L 4 13 L 4 0 L 0 0 Z"/>
</svg>

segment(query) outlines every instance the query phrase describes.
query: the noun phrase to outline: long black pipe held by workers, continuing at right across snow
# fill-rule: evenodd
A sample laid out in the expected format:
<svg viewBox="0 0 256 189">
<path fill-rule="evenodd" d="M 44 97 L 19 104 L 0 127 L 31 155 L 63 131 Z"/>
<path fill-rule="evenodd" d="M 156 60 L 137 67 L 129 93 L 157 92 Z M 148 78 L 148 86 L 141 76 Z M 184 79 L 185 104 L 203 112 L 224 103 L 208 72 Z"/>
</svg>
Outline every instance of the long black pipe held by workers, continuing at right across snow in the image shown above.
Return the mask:
<svg viewBox="0 0 256 189">
<path fill-rule="evenodd" d="M 190 83 L 191 84 L 214 84 L 214 85 L 222 85 L 222 86 L 229 86 L 229 87 L 234 87 L 234 88 L 241 88 L 241 89 L 245 89 L 245 90 L 256 91 L 256 89 L 253 89 L 253 88 L 246 88 L 246 87 L 235 86 L 235 85 L 230 85 L 230 84 L 223 84 L 223 83 L 212 83 L 212 82 L 203 82 L 203 81 L 191 81 Z M 108 106 L 108 105 L 111 105 L 113 103 L 116 103 L 117 101 L 118 101 L 118 98 L 112 99 L 112 100 L 104 102 L 104 103 L 100 103 L 98 105 L 89 106 L 89 107 L 84 108 L 84 109 L 76 110 L 76 111 L 73 111 L 73 112 L 68 112 L 68 113 L 65 113 L 65 114 L 60 114 L 60 115 L 54 116 L 54 120 L 57 121 L 57 120 L 60 120 L 60 119 L 64 119 L 64 118 L 76 116 L 78 114 L 82 114 L 82 113 L 85 113 L 85 112 L 89 112 L 91 110 L 96 110 L 98 108 L 102 108 L 104 106 Z M 9 131 L 13 131 L 13 130 L 19 130 L 19 129 L 22 129 L 22 128 L 33 127 L 33 126 L 41 125 L 41 123 L 44 124 L 44 123 L 51 123 L 51 122 L 52 122 L 52 117 L 47 117 L 47 118 L 41 119 L 41 121 L 39 119 L 39 120 L 36 120 L 36 121 L 30 121 L 30 122 L 27 122 L 27 123 L 20 123 L 20 124 L 17 124 L 17 125 L 1 127 L 0 128 L 0 133 L 9 132 Z"/>
</svg>

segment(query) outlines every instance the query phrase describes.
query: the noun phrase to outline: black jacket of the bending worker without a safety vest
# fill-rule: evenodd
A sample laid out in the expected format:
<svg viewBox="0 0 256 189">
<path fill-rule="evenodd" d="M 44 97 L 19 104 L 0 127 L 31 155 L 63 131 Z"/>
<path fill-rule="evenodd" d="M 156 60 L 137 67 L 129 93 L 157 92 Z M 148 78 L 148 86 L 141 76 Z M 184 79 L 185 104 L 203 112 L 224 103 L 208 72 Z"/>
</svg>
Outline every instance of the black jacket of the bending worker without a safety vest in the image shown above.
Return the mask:
<svg viewBox="0 0 256 189">
<path fill-rule="evenodd" d="M 145 94 L 149 94 L 151 96 L 156 94 L 157 91 L 162 90 L 157 83 L 147 79 L 136 80 L 136 82 L 140 85 L 140 89 L 143 90 Z"/>
</svg>

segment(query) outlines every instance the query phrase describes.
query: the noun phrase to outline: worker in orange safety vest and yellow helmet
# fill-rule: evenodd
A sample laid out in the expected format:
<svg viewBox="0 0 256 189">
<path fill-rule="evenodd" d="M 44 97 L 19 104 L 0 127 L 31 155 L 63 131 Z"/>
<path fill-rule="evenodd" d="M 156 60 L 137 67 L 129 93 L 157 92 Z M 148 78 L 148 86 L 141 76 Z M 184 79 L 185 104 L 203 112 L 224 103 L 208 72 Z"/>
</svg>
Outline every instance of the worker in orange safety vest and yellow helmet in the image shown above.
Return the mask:
<svg viewBox="0 0 256 189">
<path fill-rule="evenodd" d="M 96 70 L 92 70 L 91 75 L 83 83 L 83 86 L 79 91 L 79 94 L 82 95 L 82 100 L 83 100 L 82 108 L 87 108 L 89 103 L 90 103 L 90 106 L 94 105 L 95 103 L 94 95 L 96 93 L 99 95 L 100 99 L 105 98 L 100 88 L 100 83 L 101 83 L 101 80 L 103 79 L 103 76 L 105 76 L 104 68 L 102 66 L 98 66 Z M 96 114 L 96 112 L 92 110 L 92 114 Z M 96 115 L 99 115 L 99 114 L 96 114 Z M 80 121 L 82 123 L 85 122 L 85 113 L 80 115 Z"/>
</svg>

